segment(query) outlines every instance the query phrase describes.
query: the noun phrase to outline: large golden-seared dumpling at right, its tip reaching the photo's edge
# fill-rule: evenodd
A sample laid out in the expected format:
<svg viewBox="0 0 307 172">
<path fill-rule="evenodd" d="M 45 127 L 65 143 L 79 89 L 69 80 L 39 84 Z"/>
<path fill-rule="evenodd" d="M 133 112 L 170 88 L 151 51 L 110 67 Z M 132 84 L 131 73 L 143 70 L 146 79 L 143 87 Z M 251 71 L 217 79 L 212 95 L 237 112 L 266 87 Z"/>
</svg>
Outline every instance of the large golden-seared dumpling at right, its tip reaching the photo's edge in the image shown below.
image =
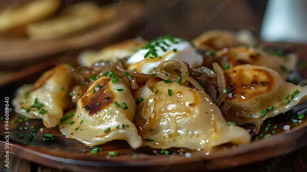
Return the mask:
<svg viewBox="0 0 307 172">
<path fill-rule="evenodd" d="M 226 96 L 224 102 L 238 113 L 239 124 L 259 123 L 284 113 L 304 101 L 307 94 L 306 86 L 286 82 L 263 66 L 238 65 L 225 70 L 225 78 L 226 86 L 236 88 L 230 90 L 231 96 Z"/>
</svg>

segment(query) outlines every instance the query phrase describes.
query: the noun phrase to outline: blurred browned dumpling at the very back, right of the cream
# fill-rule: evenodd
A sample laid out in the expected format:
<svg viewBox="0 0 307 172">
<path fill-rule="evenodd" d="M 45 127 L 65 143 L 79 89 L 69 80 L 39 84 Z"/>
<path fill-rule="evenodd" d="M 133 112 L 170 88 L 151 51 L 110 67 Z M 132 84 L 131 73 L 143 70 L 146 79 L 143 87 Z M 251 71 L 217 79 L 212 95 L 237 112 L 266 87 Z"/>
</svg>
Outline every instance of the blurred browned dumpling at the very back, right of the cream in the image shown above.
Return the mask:
<svg viewBox="0 0 307 172">
<path fill-rule="evenodd" d="M 192 42 L 196 48 L 209 51 L 239 45 L 235 33 L 227 30 L 211 30 L 205 32 Z"/>
</svg>

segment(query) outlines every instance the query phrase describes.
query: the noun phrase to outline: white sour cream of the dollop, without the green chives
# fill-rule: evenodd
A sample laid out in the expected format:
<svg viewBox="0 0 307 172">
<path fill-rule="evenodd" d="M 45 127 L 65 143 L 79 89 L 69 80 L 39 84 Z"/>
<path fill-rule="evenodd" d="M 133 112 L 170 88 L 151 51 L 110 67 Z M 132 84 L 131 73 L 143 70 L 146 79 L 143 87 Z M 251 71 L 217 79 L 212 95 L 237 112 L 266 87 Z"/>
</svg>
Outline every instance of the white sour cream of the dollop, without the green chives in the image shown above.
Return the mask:
<svg viewBox="0 0 307 172">
<path fill-rule="evenodd" d="M 196 49 L 193 48 L 188 41 L 181 40 L 179 38 L 174 38 L 174 40 L 177 41 L 178 43 L 173 43 L 167 38 L 163 39 L 163 41 L 165 41 L 165 43 L 169 45 L 166 46 L 163 43 L 159 44 L 160 46 L 163 46 L 165 48 L 165 51 L 163 51 L 162 48 L 159 46 L 155 47 L 158 57 L 150 58 L 150 56 L 152 55 L 148 55 L 146 58 L 144 58 L 144 56 L 150 49 L 138 50 L 127 61 L 127 63 L 130 65 L 129 69 L 134 70 L 136 68 L 136 71 L 140 69 L 140 71 L 138 72 L 151 74 L 155 73 L 155 70 L 153 68 L 157 67 L 161 63 L 161 61 L 169 61 L 169 60 L 182 61 L 188 63 L 192 68 L 198 67 L 202 64 L 203 57 L 196 52 Z M 151 45 L 154 45 L 155 43 L 156 41 L 153 41 Z M 173 49 L 177 49 L 177 51 L 169 53 L 169 55 L 166 55 L 165 58 L 163 57 L 165 53 L 173 51 Z M 159 57 L 162 58 L 160 58 L 159 60 Z M 141 61 L 144 61 L 144 63 L 139 63 Z"/>
</svg>

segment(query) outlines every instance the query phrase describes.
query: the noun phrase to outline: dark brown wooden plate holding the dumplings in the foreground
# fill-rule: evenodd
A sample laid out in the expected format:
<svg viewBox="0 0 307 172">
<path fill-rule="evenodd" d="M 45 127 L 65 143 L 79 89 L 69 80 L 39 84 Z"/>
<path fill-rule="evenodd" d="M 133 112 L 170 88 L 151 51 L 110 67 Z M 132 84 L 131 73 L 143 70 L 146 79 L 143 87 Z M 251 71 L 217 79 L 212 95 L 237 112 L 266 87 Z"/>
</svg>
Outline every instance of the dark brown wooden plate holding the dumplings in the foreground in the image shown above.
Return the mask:
<svg viewBox="0 0 307 172">
<path fill-rule="evenodd" d="M 76 57 L 71 58 L 74 61 Z M 53 61 L 52 61 L 53 60 Z M 35 65 L 29 69 L 25 69 L 23 76 L 15 76 L 13 82 L 7 82 L 0 90 L 2 101 L 4 97 L 13 99 L 13 93 L 17 87 L 25 83 L 33 83 L 43 72 L 43 70 L 51 68 L 50 64 L 54 64 L 58 59 L 51 59 L 50 61 Z M 40 68 L 39 68 L 40 67 Z M 39 69 L 37 69 L 39 68 Z M 34 70 L 36 69 L 36 70 Z M 21 73 L 19 73 L 21 75 Z M 9 83 L 9 84 L 8 84 Z M 3 103 L 1 109 L 4 109 Z M 13 108 L 10 104 L 10 107 Z M 288 114 L 296 114 L 300 109 L 307 107 L 307 102 L 302 105 L 292 108 Z M 0 112 L 4 116 L 4 111 Z M 124 141 L 112 141 L 104 145 L 100 145 L 103 151 L 98 155 L 91 154 L 90 148 L 77 140 L 65 138 L 59 131 L 58 127 L 46 128 L 39 119 L 29 119 L 27 121 L 13 123 L 13 119 L 17 118 L 14 112 L 10 115 L 9 135 L 10 135 L 10 154 L 15 154 L 18 157 L 26 160 L 36 162 L 45 166 L 58 168 L 60 170 L 70 171 L 132 171 L 132 170 L 146 170 L 146 171 L 198 171 L 198 170 L 217 170 L 231 168 L 248 164 L 251 162 L 262 161 L 267 158 L 280 155 L 283 151 L 294 151 L 307 145 L 307 121 L 295 127 L 293 122 L 285 121 L 281 118 L 274 117 L 267 120 L 272 126 L 278 125 L 275 131 L 277 134 L 268 138 L 263 138 L 257 141 L 252 141 L 248 145 L 222 145 L 217 147 L 212 152 L 190 151 L 187 149 L 169 149 L 169 155 L 156 155 L 154 151 L 159 152 L 158 149 L 151 149 L 142 147 L 133 150 Z M 28 125 L 26 124 L 28 123 Z M 262 125 L 261 131 L 267 126 L 268 121 Z M 0 151 L 6 151 L 5 121 L 0 121 Z M 288 132 L 284 132 L 283 126 L 290 125 Z M 37 140 L 28 139 L 27 135 L 32 132 L 31 126 L 38 131 L 36 133 Z M 19 128 L 23 130 L 20 131 Z M 27 127 L 27 129 L 24 129 Z M 253 126 L 243 126 L 246 129 L 253 129 Z M 40 128 L 43 128 L 41 131 Z M 45 133 L 55 135 L 55 140 L 42 141 Z M 20 138 L 19 135 L 23 135 Z M 253 139 L 255 136 L 253 136 Z M 87 152 L 83 153 L 82 149 Z M 107 156 L 108 151 L 118 151 L 118 156 Z M 186 157 L 185 153 L 191 153 L 191 157 Z M 133 154 L 138 154 L 138 158 L 133 158 Z"/>
</svg>

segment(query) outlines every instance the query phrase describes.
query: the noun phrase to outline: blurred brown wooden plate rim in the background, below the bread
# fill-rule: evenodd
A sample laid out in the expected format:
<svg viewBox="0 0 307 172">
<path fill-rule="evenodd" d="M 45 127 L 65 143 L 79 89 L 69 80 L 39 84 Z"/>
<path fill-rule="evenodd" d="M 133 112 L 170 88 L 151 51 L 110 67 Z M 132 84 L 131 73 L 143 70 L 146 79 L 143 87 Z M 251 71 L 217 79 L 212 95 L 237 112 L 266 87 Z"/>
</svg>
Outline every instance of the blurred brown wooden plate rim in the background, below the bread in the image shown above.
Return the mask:
<svg viewBox="0 0 307 172">
<path fill-rule="evenodd" d="M 93 26 L 71 37 L 52 40 L 31 40 L 30 38 L 0 37 L 0 63 L 17 65 L 22 62 L 33 61 L 37 58 L 49 56 L 94 45 L 110 40 L 122 33 L 136 21 L 142 21 L 144 8 L 136 3 L 124 3 L 116 9 L 116 16 L 112 20 Z M 17 64 L 16 64 L 17 63 Z"/>
</svg>

